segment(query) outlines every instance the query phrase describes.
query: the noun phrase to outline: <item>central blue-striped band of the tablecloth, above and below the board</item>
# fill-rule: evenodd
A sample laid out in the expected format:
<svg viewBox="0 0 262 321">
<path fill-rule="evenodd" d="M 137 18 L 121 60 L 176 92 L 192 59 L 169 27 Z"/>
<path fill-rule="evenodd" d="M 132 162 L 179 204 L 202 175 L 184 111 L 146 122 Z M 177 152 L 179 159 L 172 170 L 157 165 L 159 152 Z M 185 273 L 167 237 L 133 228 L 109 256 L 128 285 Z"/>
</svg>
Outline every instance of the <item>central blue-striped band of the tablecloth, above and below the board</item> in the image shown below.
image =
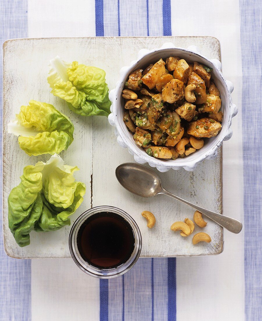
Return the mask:
<svg viewBox="0 0 262 321">
<path fill-rule="evenodd" d="M 104 0 L 103 9 L 105 36 L 171 35 L 170 0 Z M 100 280 L 101 321 L 176 320 L 175 258 L 140 258 L 125 275 L 105 282 Z"/>
</svg>

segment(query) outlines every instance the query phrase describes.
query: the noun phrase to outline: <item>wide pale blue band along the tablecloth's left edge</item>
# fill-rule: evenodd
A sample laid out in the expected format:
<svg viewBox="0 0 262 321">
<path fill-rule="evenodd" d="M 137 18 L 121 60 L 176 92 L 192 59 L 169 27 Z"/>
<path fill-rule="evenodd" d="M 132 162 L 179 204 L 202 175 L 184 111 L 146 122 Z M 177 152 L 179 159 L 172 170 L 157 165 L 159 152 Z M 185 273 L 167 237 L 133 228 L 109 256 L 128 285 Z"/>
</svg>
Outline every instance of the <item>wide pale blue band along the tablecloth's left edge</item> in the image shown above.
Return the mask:
<svg viewBox="0 0 262 321">
<path fill-rule="evenodd" d="M 27 37 L 27 1 L 0 1 L 0 117 L 3 118 L 3 49 L 6 39 Z M 1 187 L 2 186 L 2 128 L 0 131 Z M 0 212 L 3 212 L 2 201 Z M 31 320 L 31 260 L 17 260 L 7 256 L 3 244 L 3 222 L 0 219 L 0 319 L 1 321 Z"/>
</svg>

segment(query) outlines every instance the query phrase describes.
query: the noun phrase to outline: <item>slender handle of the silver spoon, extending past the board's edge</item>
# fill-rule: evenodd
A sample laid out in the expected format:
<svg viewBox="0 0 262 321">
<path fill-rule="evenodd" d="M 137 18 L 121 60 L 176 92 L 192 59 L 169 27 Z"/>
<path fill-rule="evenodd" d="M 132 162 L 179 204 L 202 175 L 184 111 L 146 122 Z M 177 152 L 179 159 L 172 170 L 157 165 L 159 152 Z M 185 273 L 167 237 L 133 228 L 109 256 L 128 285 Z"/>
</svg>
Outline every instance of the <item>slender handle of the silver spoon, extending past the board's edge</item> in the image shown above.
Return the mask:
<svg viewBox="0 0 262 321">
<path fill-rule="evenodd" d="M 200 206 L 197 206 L 195 204 L 192 204 L 186 200 L 184 200 L 183 198 L 180 198 L 168 191 L 166 191 L 164 188 L 162 188 L 162 191 L 159 194 L 165 194 L 168 195 L 170 197 L 175 198 L 176 200 L 187 204 L 191 207 L 193 207 L 195 210 L 203 213 L 204 215 L 206 215 L 207 217 L 209 217 L 211 220 L 215 221 L 216 223 L 218 223 L 219 225 L 223 226 L 225 229 L 229 230 L 230 232 L 233 233 L 239 233 L 242 230 L 242 223 L 240 221 L 237 221 L 231 217 L 227 217 L 225 215 L 221 215 L 215 212 L 211 212 L 209 210 L 206 210 Z"/>
</svg>

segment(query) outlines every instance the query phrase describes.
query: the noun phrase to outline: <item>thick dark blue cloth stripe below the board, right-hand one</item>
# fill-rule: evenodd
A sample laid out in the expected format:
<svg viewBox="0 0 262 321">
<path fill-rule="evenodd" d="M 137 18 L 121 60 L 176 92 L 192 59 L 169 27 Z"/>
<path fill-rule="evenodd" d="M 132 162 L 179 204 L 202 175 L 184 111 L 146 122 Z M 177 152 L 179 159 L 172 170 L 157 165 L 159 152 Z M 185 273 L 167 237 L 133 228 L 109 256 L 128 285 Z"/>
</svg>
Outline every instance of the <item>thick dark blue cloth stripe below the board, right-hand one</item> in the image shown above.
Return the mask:
<svg viewBox="0 0 262 321">
<path fill-rule="evenodd" d="M 168 258 L 168 321 L 176 320 L 176 259 Z"/>
</svg>

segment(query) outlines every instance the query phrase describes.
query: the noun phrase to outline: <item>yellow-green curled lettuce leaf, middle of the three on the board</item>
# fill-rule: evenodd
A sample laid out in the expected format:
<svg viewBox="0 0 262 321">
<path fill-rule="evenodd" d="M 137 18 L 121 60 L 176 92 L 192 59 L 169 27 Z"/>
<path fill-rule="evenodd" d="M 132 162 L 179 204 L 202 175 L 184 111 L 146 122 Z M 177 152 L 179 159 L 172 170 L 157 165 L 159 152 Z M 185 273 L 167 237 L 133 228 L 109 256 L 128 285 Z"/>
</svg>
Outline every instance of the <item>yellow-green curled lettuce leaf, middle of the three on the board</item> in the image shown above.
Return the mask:
<svg viewBox="0 0 262 321">
<path fill-rule="evenodd" d="M 53 155 L 73 142 L 74 125 L 53 105 L 30 100 L 8 124 L 8 133 L 19 136 L 19 146 L 29 156 Z"/>
</svg>

